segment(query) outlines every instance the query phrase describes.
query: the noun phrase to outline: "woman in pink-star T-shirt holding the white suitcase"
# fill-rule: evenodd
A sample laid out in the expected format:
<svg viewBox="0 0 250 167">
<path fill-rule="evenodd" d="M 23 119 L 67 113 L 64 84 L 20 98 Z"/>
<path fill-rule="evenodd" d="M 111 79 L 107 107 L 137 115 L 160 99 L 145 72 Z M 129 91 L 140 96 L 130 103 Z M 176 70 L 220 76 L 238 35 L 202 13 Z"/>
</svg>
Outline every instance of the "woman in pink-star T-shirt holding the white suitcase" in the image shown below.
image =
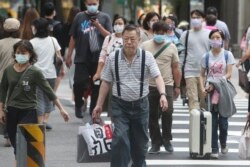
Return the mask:
<svg viewBox="0 0 250 167">
<path fill-rule="evenodd" d="M 227 135 L 228 135 L 228 117 L 231 116 L 229 109 L 221 110 L 220 104 L 223 102 L 220 98 L 229 97 L 228 94 L 216 88 L 212 80 L 229 80 L 232 75 L 232 68 L 235 64 L 235 59 L 230 51 L 223 48 L 223 41 L 225 37 L 221 30 L 214 29 L 209 34 L 210 51 L 206 53 L 201 60 L 201 77 L 200 84 L 204 96 L 207 93 L 211 95 L 210 112 L 212 115 L 212 154 L 211 158 L 218 159 L 219 145 L 221 146 L 221 153 L 228 152 Z M 206 74 L 207 73 L 207 74 Z M 209 85 L 205 87 L 205 78 L 209 81 Z M 223 82 L 224 83 L 224 82 Z M 222 85 L 222 84 L 221 84 Z M 227 90 L 228 91 L 228 90 Z M 229 101 L 227 106 L 229 106 Z M 232 108 L 230 108 L 232 109 Z M 219 129 L 219 135 L 218 135 Z"/>
</svg>

